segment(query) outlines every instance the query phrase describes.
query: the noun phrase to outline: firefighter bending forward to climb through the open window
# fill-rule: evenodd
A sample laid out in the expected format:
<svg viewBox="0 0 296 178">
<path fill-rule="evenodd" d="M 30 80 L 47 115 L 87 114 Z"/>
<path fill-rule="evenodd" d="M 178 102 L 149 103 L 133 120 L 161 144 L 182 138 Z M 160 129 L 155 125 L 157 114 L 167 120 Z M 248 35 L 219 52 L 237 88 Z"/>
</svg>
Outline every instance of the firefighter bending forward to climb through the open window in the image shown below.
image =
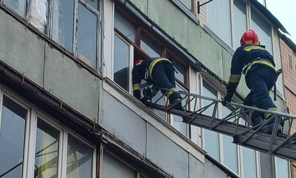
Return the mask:
<svg viewBox="0 0 296 178">
<path fill-rule="evenodd" d="M 153 83 L 154 86 L 167 88 L 171 91 L 178 92 L 175 83 L 175 68 L 172 60 L 162 57 L 154 57 L 147 60 L 137 60 L 132 71 L 133 75 L 133 93 L 134 97 L 140 100 L 141 98 L 141 81 L 145 80 Z M 155 89 L 158 92 L 157 89 Z M 178 103 L 182 97 L 175 92 L 169 92 L 169 101 L 171 105 Z M 166 91 L 161 90 L 164 94 Z M 154 96 L 156 93 L 154 93 Z M 182 103 L 178 103 L 175 109 L 182 110 Z"/>
</svg>

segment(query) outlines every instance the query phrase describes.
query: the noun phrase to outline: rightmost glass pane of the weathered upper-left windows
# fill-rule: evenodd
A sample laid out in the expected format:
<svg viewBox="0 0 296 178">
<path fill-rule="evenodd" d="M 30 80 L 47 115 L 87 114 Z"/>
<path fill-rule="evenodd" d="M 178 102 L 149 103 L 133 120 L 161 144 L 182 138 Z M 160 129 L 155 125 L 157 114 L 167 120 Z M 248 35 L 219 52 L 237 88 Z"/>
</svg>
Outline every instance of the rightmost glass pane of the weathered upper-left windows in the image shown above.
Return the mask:
<svg viewBox="0 0 296 178">
<path fill-rule="evenodd" d="M 79 4 L 77 55 L 92 68 L 96 65 L 96 18 L 93 13 Z"/>
</svg>

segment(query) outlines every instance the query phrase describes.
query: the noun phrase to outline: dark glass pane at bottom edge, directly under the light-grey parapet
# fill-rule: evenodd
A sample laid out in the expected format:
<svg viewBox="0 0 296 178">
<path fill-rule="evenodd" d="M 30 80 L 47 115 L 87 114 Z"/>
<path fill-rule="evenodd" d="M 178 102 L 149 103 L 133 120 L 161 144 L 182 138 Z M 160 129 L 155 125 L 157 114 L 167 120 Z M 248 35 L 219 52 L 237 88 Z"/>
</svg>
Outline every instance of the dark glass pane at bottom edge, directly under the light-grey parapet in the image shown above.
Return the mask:
<svg viewBox="0 0 296 178">
<path fill-rule="evenodd" d="M 114 158 L 107 152 L 103 154 L 103 178 L 136 178 L 137 172 Z"/>
</svg>

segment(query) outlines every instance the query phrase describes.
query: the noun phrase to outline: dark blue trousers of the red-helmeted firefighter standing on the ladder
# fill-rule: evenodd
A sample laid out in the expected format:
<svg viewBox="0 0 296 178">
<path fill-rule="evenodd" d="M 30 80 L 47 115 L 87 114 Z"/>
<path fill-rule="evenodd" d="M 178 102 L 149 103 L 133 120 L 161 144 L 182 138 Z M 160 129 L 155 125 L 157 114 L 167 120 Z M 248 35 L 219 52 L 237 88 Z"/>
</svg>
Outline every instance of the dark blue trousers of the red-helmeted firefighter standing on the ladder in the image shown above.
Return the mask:
<svg viewBox="0 0 296 178">
<path fill-rule="evenodd" d="M 250 71 L 246 76 L 246 85 L 251 92 L 246 96 L 243 104 L 264 110 L 278 110 L 272 98 L 269 96 L 269 91 L 272 90 L 272 87 L 276 84 L 277 78 L 276 72 L 272 69 L 259 65 L 256 66 L 256 68 Z M 251 118 L 253 124 L 257 122 L 258 116 L 262 118 L 265 117 L 264 113 L 254 111 Z"/>
</svg>

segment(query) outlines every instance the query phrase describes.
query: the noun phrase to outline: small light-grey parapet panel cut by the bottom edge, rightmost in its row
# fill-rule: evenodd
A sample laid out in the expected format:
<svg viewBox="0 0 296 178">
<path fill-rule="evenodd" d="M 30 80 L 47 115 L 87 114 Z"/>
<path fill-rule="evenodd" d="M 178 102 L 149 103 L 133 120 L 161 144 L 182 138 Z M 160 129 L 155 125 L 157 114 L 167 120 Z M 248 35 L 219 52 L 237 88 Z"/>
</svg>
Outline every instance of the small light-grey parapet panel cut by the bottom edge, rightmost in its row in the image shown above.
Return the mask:
<svg viewBox="0 0 296 178">
<path fill-rule="evenodd" d="M 228 178 L 227 174 L 205 159 L 205 175 L 204 178 Z M 192 178 L 192 177 L 191 177 Z"/>
</svg>

